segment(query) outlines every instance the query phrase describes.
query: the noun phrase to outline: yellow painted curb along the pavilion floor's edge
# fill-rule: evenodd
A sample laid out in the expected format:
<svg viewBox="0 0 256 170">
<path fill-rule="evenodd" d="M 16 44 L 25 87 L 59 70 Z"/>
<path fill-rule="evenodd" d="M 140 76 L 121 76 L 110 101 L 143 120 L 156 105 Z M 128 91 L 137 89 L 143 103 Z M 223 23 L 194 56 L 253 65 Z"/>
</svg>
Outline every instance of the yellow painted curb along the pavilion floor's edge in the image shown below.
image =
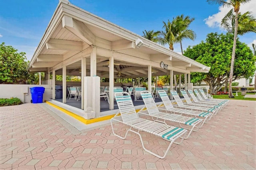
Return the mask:
<svg viewBox="0 0 256 170">
<path fill-rule="evenodd" d="M 70 115 L 70 116 L 72 116 L 72 117 L 74 117 L 75 119 L 77 119 L 77 120 L 79 120 L 79 121 L 81 121 L 82 123 L 84 123 L 84 124 L 90 124 L 90 123 L 96 123 L 96 122 L 99 122 L 99 121 L 104 121 L 104 120 L 108 120 L 108 119 L 111 119 L 112 117 L 114 117 L 114 115 L 116 115 L 116 114 L 114 114 L 114 115 L 108 115 L 108 116 L 103 116 L 103 117 L 97 117 L 97 118 L 94 118 L 94 119 L 84 119 L 84 117 L 81 117 L 81 116 L 79 116 L 79 115 L 77 115 L 77 114 L 75 114 L 75 113 L 73 113 L 73 112 L 71 112 L 71 111 L 68 111 L 68 110 L 66 110 L 66 109 L 63 109 L 62 107 L 60 107 L 60 106 L 57 106 L 57 105 L 55 105 L 55 104 L 52 104 L 52 103 L 50 103 L 50 102 L 48 102 L 48 101 L 45 101 L 47 104 L 49 104 L 50 106 L 52 106 L 52 107 L 55 107 L 56 109 L 59 109 L 59 110 L 61 110 L 61 111 L 63 111 L 64 113 L 66 113 L 66 114 L 68 114 L 68 115 Z M 138 112 L 140 109 L 137 109 L 136 110 L 136 112 Z"/>
</svg>

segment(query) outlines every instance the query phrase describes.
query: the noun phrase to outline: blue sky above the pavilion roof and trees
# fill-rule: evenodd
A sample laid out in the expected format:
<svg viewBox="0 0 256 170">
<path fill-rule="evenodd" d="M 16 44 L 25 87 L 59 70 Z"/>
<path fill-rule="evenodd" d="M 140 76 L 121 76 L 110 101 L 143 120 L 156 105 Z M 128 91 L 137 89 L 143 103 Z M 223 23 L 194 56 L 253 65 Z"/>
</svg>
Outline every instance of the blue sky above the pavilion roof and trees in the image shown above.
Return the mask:
<svg viewBox="0 0 256 170">
<path fill-rule="evenodd" d="M 208 4 L 206 0 L 69 0 L 70 3 L 92 14 L 100 16 L 116 25 L 138 35 L 146 30 L 162 30 L 162 21 L 172 21 L 180 14 L 194 17 L 190 29 L 196 32 L 196 40 L 184 40 L 183 49 L 196 45 L 206 39 L 211 32 L 225 32 L 219 27 L 223 16 L 230 10 L 218 5 Z M 37 45 L 58 5 L 58 0 L 3 0 L 0 6 L 0 43 L 12 45 L 19 52 L 25 52 L 28 60 L 32 58 Z M 256 18 L 256 0 L 241 6 L 240 11 L 251 11 Z M 240 41 L 251 46 L 256 43 L 256 34 L 240 36 Z M 174 45 L 180 52 L 180 45 Z"/>
</svg>

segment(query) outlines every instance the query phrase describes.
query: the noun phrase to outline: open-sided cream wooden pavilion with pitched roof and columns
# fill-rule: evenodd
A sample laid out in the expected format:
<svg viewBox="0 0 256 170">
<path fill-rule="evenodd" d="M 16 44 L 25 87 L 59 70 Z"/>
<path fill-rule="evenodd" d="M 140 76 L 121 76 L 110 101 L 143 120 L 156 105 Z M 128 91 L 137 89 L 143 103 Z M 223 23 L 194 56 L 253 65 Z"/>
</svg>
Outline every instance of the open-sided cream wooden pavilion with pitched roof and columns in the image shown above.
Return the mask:
<svg viewBox="0 0 256 170">
<path fill-rule="evenodd" d="M 68 83 L 66 76 L 81 76 L 81 109 L 85 113 L 92 109 L 96 117 L 100 116 L 100 88 L 96 88 L 100 81 L 95 80 L 96 86 L 88 86 L 92 79 L 86 80 L 86 76 L 109 78 L 109 88 L 113 89 L 114 78 L 148 77 L 151 82 L 152 76 L 170 75 L 172 89 L 172 77 L 184 74 L 186 89 L 193 86 L 191 72 L 209 70 L 208 66 L 74 6 L 68 0 L 60 0 L 28 66 L 29 72 L 45 72 L 45 83 L 52 84 L 53 99 L 55 75 L 63 76 L 63 96 Z M 148 89 L 151 89 L 150 83 Z M 110 90 L 110 110 L 114 109 L 113 96 Z M 65 97 L 62 102 L 66 103 Z"/>
</svg>

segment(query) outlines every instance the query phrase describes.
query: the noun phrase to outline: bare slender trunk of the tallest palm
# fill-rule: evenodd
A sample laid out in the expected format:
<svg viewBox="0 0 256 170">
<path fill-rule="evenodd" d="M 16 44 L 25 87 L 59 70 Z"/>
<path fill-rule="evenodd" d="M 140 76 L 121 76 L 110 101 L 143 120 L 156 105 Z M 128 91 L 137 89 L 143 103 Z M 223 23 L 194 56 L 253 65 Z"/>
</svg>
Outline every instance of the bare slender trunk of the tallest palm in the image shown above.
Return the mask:
<svg viewBox="0 0 256 170">
<path fill-rule="evenodd" d="M 237 38 L 237 29 L 238 29 L 238 11 L 236 11 L 235 16 L 235 32 L 234 32 L 234 43 L 233 43 L 233 50 L 232 50 L 232 58 L 231 58 L 231 66 L 230 66 L 230 74 L 229 74 L 229 88 L 228 88 L 228 97 L 235 98 L 232 93 L 232 79 L 233 79 L 233 72 L 234 72 L 234 62 L 235 62 L 235 54 L 236 54 L 236 38 Z"/>
</svg>

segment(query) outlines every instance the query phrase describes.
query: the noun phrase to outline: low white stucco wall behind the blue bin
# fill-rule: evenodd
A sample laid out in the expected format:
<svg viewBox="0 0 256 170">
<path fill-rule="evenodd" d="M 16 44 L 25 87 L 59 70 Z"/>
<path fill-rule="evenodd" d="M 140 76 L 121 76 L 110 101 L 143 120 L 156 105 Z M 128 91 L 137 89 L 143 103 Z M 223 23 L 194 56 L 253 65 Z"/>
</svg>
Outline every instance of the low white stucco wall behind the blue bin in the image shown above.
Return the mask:
<svg viewBox="0 0 256 170">
<path fill-rule="evenodd" d="M 38 84 L 0 84 L 0 98 L 19 98 L 23 103 L 30 103 L 30 87 L 44 87 L 43 101 L 52 98 L 52 85 Z"/>
</svg>

